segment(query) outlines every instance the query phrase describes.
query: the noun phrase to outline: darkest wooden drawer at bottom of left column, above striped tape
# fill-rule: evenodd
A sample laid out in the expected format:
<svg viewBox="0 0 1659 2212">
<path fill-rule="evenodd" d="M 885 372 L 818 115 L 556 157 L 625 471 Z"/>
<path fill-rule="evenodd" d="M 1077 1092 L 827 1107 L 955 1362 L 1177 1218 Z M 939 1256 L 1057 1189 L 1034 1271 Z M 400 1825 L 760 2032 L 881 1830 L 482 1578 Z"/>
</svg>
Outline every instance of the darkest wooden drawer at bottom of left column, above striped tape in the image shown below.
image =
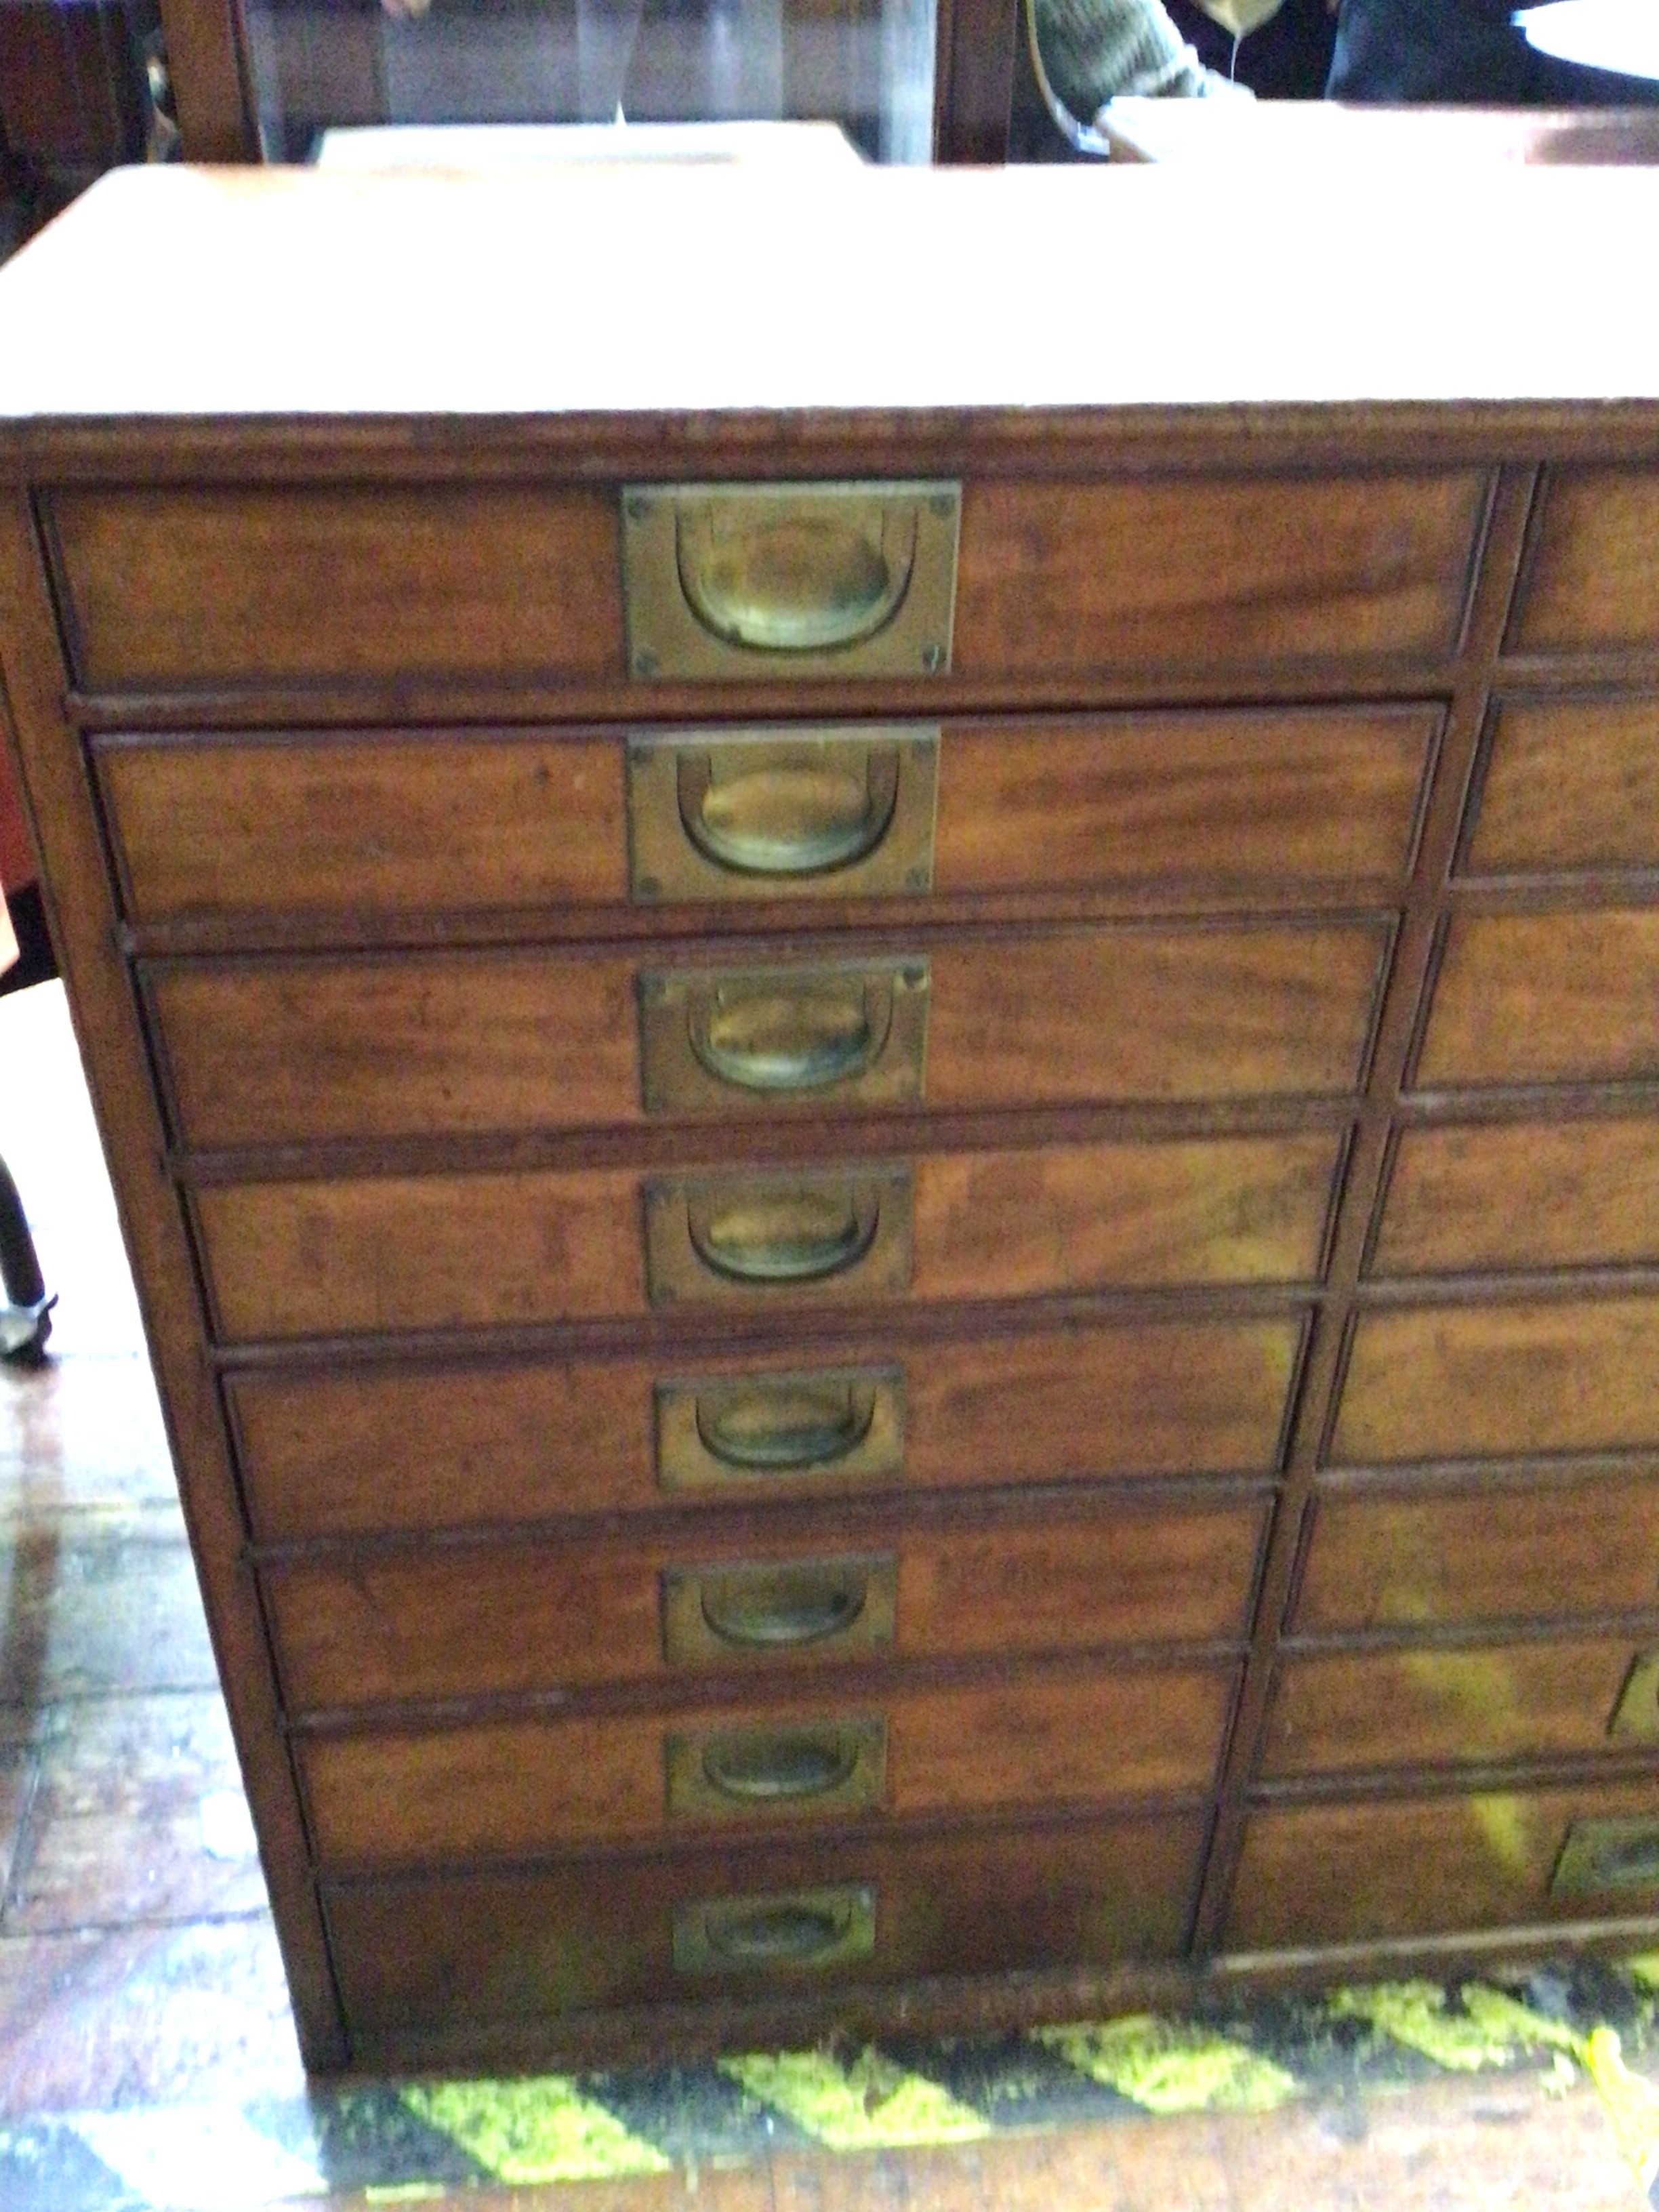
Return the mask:
<svg viewBox="0 0 1659 2212">
<path fill-rule="evenodd" d="M 533 2022 L 661 1997 L 1175 1958 L 1201 1834 L 1192 1816 L 1139 1816 L 938 1843 L 825 1838 L 334 1882 L 325 1900 L 356 2033 Z"/>
</svg>

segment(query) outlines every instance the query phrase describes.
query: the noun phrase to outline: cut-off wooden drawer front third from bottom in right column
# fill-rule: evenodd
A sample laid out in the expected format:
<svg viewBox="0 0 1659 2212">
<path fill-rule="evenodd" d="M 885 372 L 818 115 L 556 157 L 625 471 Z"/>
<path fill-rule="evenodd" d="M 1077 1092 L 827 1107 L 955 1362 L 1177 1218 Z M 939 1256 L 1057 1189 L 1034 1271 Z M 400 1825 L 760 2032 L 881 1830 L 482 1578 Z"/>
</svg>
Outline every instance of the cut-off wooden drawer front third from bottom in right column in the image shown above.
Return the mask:
<svg viewBox="0 0 1659 2212">
<path fill-rule="evenodd" d="M 1659 1606 L 1659 1482 L 1325 1491 L 1292 1615 L 1296 1635 L 1455 1628 Z"/>
</svg>

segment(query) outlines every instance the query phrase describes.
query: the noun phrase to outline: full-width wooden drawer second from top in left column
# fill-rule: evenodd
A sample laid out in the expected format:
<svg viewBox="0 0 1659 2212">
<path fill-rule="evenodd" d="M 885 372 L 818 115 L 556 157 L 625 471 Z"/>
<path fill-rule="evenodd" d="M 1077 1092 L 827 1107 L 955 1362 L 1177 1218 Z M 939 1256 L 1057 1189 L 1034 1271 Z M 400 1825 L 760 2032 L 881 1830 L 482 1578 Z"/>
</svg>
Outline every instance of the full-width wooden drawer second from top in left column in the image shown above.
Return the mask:
<svg viewBox="0 0 1659 2212">
<path fill-rule="evenodd" d="M 139 922 L 1396 885 L 1438 708 L 97 741 Z M 630 867 L 633 852 L 633 867 Z"/>
</svg>

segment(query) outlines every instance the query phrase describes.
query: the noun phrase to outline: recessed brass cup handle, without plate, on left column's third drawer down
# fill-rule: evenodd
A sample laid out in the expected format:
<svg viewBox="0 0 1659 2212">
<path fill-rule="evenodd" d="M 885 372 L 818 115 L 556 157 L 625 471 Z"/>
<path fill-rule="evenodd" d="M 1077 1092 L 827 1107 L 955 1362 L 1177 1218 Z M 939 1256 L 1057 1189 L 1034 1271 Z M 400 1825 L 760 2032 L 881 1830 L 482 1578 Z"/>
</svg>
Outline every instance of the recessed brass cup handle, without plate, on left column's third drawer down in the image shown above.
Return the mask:
<svg viewBox="0 0 1659 2212">
<path fill-rule="evenodd" d="M 827 1091 L 865 1075 L 894 1026 L 891 975 L 743 978 L 697 991 L 690 1046 L 739 1091 Z"/>
</svg>

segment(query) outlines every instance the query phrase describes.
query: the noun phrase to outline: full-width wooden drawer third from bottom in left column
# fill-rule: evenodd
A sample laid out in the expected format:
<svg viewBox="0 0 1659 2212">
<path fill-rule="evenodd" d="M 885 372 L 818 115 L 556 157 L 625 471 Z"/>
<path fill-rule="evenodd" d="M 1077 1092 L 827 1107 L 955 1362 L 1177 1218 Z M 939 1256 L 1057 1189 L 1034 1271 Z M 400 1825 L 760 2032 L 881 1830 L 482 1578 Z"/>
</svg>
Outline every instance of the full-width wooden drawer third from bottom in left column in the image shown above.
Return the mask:
<svg viewBox="0 0 1659 2212">
<path fill-rule="evenodd" d="M 270 1562 L 296 1712 L 843 1661 L 1239 1639 L 1265 1506 L 1113 1500 L 816 1540 L 442 1544 Z"/>
</svg>

